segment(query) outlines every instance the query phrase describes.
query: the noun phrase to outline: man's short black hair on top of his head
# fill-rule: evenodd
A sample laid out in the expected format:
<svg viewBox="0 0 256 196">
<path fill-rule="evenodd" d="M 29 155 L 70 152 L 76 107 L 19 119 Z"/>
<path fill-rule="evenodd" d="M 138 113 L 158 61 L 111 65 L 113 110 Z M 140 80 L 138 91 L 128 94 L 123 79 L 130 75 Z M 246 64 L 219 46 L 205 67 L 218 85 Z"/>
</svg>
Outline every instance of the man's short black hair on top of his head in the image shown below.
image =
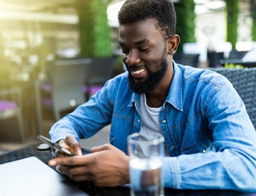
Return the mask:
<svg viewBox="0 0 256 196">
<path fill-rule="evenodd" d="M 173 36 L 176 29 L 176 13 L 171 0 L 126 0 L 118 13 L 119 24 L 156 18 L 165 38 Z"/>
</svg>

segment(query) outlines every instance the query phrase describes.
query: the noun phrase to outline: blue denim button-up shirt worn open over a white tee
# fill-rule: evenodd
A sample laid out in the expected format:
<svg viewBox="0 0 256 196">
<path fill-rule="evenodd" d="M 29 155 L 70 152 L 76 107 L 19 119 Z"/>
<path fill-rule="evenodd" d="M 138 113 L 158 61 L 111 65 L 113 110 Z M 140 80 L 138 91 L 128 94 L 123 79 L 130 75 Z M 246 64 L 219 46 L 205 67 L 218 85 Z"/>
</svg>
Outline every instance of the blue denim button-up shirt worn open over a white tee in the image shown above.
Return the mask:
<svg viewBox="0 0 256 196">
<path fill-rule="evenodd" d="M 173 61 L 174 62 L 174 61 Z M 127 136 L 142 126 L 140 95 L 117 75 L 50 129 L 53 141 L 89 138 L 111 124 L 110 143 L 127 154 Z M 165 187 L 256 192 L 256 134 L 240 96 L 222 75 L 174 62 L 174 78 L 159 114 L 170 157 Z"/>
</svg>

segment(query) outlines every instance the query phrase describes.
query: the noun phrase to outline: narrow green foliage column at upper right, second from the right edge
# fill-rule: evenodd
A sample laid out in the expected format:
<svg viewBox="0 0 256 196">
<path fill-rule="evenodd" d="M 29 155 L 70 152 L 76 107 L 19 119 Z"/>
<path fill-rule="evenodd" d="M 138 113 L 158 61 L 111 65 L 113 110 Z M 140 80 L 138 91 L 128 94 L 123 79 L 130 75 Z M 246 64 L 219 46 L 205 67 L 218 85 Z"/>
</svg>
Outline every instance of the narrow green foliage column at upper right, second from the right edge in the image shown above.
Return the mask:
<svg viewBox="0 0 256 196">
<path fill-rule="evenodd" d="M 237 43 L 238 0 L 226 0 L 226 38 L 235 48 Z"/>
</svg>

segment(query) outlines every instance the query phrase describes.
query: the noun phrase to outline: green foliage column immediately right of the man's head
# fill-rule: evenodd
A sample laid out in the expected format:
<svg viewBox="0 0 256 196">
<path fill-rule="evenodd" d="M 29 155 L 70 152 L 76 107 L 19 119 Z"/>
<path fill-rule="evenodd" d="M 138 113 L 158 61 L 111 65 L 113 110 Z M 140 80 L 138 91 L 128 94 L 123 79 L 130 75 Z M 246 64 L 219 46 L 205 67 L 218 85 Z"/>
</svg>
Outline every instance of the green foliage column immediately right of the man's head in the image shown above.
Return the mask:
<svg viewBox="0 0 256 196">
<path fill-rule="evenodd" d="M 174 6 L 177 14 L 176 33 L 180 36 L 178 51 L 183 51 L 183 44 L 196 41 L 194 37 L 194 0 L 183 0 Z"/>
</svg>

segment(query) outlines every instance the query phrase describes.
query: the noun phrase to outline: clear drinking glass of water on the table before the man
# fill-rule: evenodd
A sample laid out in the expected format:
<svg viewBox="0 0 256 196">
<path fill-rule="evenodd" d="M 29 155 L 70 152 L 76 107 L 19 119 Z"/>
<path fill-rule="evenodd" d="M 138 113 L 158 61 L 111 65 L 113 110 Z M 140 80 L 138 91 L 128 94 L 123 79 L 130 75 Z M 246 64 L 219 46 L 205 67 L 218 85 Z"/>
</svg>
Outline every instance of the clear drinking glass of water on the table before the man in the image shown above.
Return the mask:
<svg viewBox="0 0 256 196">
<path fill-rule="evenodd" d="M 131 196 L 163 196 L 162 160 L 164 138 L 160 133 L 145 139 L 140 133 L 128 136 Z"/>
</svg>

